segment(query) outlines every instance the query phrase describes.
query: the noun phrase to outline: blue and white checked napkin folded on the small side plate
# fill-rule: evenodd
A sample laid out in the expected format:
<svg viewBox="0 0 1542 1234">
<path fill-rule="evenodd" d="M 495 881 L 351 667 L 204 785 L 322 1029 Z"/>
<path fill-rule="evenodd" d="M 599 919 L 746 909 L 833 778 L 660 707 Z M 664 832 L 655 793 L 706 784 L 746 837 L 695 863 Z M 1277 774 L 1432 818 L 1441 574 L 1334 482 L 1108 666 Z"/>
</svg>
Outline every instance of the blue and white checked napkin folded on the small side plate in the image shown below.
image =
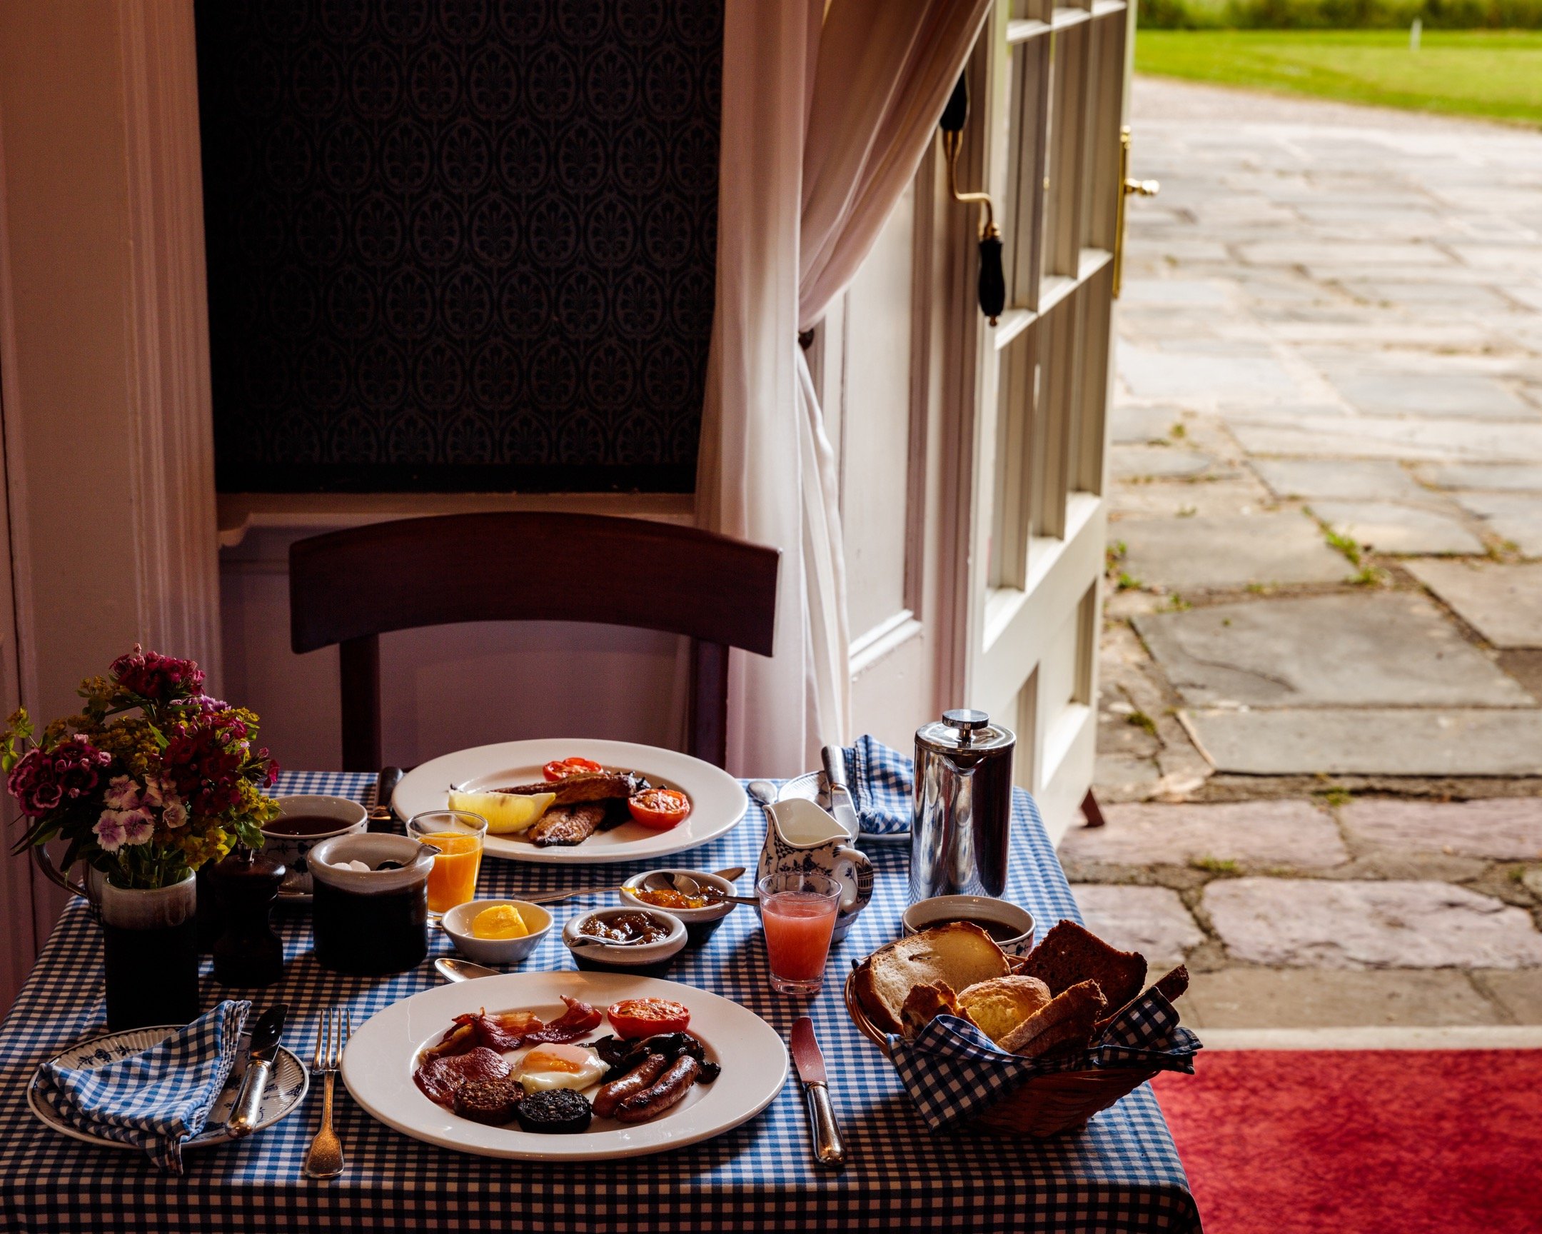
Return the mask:
<svg viewBox="0 0 1542 1234">
<path fill-rule="evenodd" d="M 230 1078 L 251 1004 L 227 998 L 143 1054 L 100 1067 L 39 1069 L 43 1100 L 80 1131 L 134 1145 L 182 1172 L 182 1143 L 204 1129 Z"/>
</svg>

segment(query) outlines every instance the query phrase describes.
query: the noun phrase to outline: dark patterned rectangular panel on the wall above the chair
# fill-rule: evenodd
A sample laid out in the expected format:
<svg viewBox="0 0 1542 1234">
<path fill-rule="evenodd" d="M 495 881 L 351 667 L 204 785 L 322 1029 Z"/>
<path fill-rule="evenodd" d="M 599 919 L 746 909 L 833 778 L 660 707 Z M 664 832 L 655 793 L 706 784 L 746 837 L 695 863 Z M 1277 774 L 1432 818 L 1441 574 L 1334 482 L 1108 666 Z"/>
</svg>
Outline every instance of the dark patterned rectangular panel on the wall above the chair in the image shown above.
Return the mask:
<svg viewBox="0 0 1542 1234">
<path fill-rule="evenodd" d="M 689 491 L 723 0 L 200 0 L 219 487 Z"/>
</svg>

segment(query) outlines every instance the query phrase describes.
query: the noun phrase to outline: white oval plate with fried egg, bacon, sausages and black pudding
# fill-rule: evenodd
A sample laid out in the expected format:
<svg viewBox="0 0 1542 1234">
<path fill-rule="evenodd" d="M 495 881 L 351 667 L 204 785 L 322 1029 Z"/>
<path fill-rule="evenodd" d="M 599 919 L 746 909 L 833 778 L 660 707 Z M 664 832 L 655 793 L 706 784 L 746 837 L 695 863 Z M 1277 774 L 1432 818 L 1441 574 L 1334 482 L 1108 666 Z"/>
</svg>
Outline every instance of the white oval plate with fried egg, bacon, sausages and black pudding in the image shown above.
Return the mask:
<svg viewBox="0 0 1542 1234">
<path fill-rule="evenodd" d="M 601 972 L 506 973 L 393 1003 L 353 1033 L 342 1083 L 441 1148 L 601 1162 L 711 1140 L 788 1075 L 759 1015 L 715 993 Z"/>
</svg>

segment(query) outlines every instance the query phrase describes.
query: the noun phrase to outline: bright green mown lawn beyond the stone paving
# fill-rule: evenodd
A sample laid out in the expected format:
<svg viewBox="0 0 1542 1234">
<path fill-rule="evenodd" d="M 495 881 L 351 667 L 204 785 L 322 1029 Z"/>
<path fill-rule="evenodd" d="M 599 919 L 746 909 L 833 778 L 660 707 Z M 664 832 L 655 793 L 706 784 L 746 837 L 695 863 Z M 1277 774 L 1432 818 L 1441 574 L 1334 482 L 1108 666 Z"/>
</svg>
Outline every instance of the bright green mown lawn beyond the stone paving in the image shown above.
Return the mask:
<svg viewBox="0 0 1542 1234">
<path fill-rule="evenodd" d="M 1135 69 L 1542 126 L 1542 31 L 1143 29 Z"/>
</svg>

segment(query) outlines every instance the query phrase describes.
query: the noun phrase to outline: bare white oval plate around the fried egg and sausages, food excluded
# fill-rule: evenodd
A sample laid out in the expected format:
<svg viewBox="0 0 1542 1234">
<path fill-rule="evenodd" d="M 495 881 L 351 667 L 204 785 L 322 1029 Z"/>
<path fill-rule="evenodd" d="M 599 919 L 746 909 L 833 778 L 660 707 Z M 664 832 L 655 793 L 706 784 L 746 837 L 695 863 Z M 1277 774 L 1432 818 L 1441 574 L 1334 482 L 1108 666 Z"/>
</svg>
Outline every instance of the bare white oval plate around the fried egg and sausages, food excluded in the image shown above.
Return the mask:
<svg viewBox="0 0 1542 1234">
<path fill-rule="evenodd" d="M 711 1084 L 692 1084 L 685 1100 L 646 1123 L 595 1118 L 578 1135 L 527 1132 L 518 1123 L 473 1123 L 430 1101 L 413 1083 L 419 1052 L 444 1035 L 453 1017 L 486 1007 L 530 1010 L 550 1021 L 566 1010 L 560 995 L 600 1010 L 621 998 L 683 1003 L 691 1012 L 688 1032 L 702 1041 L 708 1060 L 722 1066 L 723 1074 Z M 584 1040 L 611 1032 L 606 1018 Z M 512 1054 L 509 1060 L 517 1057 Z M 776 1029 L 737 1003 L 675 981 L 601 972 L 504 973 L 424 990 L 373 1015 L 342 1054 L 342 1083 L 386 1126 L 460 1152 L 529 1162 L 603 1162 L 711 1140 L 769 1106 L 786 1081 L 786 1047 Z M 598 1084 L 584 1095 L 595 1091 Z"/>
</svg>

